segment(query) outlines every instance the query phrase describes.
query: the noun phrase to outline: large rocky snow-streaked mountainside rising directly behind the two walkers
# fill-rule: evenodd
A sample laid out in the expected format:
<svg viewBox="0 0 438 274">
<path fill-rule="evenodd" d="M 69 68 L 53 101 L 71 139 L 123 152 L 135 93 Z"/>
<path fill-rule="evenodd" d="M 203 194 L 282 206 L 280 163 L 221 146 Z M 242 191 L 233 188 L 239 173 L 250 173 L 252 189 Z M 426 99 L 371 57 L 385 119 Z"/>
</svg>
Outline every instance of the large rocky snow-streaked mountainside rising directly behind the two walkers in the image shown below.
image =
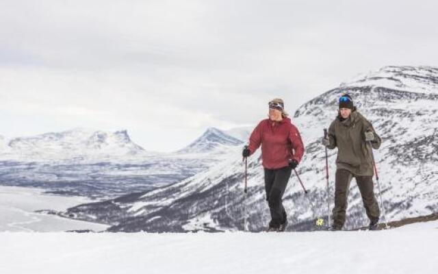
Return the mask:
<svg viewBox="0 0 438 274">
<path fill-rule="evenodd" d="M 417 74 L 413 75 L 413 71 Z M 427 73 L 419 77 L 424 71 Z M 284 202 L 289 212 L 289 229 L 311 229 L 315 217 L 327 215 L 324 147 L 320 140 L 324 127 L 329 127 L 337 115 L 337 98 L 342 92 L 352 95 L 359 112 L 372 121 L 384 140 L 381 149 L 375 151 L 375 158 L 388 219 L 438 211 L 438 93 L 435 85 L 438 69 L 391 66 L 381 72 L 380 79 L 400 79 L 409 82 L 411 87 L 420 88 L 394 89 L 393 85 L 385 86 L 387 82 L 355 79 L 353 84 L 329 90 L 296 111 L 293 123 L 300 129 L 306 145 L 305 157 L 297 170 L 309 194 L 304 195 L 292 175 Z M 379 74 L 374 77 L 376 75 Z M 430 88 L 427 89 L 425 83 L 429 83 Z M 240 147 L 230 150 L 229 160 L 179 184 L 99 205 L 78 206 L 68 212 L 85 220 L 87 216 L 96 216 L 114 225 L 112 231 L 216 231 L 242 229 L 246 208 L 248 229 L 258 231 L 269 220 L 260 154 L 258 151 L 248 162 L 249 188 L 245 199 L 240 152 Z M 336 150 L 329 151 L 331 208 L 335 157 Z M 367 224 L 358 188 L 352 182 L 346 228 Z"/>
</svg>

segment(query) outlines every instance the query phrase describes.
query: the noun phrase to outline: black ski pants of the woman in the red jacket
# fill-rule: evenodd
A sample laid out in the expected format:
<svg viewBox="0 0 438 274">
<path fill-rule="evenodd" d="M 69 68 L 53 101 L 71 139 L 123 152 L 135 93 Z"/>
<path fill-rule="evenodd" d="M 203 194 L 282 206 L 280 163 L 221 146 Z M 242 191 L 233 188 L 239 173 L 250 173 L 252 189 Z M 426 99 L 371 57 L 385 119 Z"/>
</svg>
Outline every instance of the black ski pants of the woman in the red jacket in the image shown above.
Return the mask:
<svg viewBox="0 0 438 274">
<path fill-rule="evenodd" d="M 289 166 L 281 169 L 265 169 L 266 200 L 271 213 L 270 227 L 279 227 L 287 220 L 287 214 L 281 199 L 291 173 L 292 168 Z"/>
</svg>

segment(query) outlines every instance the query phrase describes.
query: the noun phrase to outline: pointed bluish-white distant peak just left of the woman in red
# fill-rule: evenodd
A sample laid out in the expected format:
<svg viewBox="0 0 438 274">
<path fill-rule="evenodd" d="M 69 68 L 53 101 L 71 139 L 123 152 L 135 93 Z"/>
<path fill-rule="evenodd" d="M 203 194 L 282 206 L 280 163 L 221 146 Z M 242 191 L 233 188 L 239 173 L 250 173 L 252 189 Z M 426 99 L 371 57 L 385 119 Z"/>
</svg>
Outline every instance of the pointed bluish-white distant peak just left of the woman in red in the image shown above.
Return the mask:
<svg viewBox="0 0 438 274">
<path fill-rule="evenodd" d="M 210 127 L 204 134 L 194 140 L 188 147 L 178 151 L 179 153 L 211 153 L 222 147 L 241 145 L 242 140 L 225 134 L 220 129 Z"/>
</svg>

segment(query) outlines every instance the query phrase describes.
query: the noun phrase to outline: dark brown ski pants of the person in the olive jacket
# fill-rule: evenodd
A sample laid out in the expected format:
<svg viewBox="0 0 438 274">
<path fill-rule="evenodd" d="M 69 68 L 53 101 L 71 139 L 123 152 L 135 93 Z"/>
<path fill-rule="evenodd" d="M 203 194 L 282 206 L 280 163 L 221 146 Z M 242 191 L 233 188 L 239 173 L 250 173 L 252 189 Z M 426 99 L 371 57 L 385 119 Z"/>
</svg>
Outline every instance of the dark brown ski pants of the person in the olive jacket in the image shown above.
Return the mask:
<svg viewBox="0 0 438 274">
<path fill-rule="evenodd" d="M 363 207 L 367 212 L 370 222 L 377 223 L 381 214 L 376 197 L 374 196 L 372 176 L 355 176 L 346 169 L 338 169 L 335 179 L 335 208 L 333 208 L 333 225 L 338 229 L 341 229 L 345 223 L 348 190 L 352 177 L 356 178 L 356 184 L 361 192 Z"/>
</svg>

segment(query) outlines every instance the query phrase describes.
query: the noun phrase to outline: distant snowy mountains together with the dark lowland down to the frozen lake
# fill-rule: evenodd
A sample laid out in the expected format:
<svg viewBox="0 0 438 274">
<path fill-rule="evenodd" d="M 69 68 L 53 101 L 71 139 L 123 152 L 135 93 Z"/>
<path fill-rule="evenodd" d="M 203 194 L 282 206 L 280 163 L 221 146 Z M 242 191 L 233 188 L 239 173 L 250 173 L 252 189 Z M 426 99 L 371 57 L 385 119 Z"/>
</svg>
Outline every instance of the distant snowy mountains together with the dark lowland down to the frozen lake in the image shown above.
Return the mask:
<svg viewBox="0 0 438 274">
<path fill-rule="evenodd" d="M 126 130 L 0 137 L 0 184 L 40 187 L 60 195 L 117 197 L 181 182 L 217 164 L 223 151 L 242 143 L 215 128 L 174 153 L 145 151 Z"/>
</svg>

